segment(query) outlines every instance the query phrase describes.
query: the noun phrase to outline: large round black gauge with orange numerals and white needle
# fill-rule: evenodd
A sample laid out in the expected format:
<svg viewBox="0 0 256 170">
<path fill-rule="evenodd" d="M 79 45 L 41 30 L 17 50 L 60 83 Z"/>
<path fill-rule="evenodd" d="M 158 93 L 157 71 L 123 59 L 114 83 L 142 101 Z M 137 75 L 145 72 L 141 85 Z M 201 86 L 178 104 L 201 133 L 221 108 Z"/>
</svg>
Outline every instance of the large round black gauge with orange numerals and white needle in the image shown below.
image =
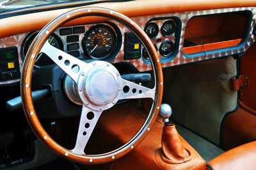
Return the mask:
<svg viewBox="0 0 256 170">
<path fill-rule="evenodd" d="M 82 45 L 84 53 L 90 58 L 104 59 L 114 51 L 116 34 L 109 26 L 93 26 L 84 35 Z"/>
</svg>

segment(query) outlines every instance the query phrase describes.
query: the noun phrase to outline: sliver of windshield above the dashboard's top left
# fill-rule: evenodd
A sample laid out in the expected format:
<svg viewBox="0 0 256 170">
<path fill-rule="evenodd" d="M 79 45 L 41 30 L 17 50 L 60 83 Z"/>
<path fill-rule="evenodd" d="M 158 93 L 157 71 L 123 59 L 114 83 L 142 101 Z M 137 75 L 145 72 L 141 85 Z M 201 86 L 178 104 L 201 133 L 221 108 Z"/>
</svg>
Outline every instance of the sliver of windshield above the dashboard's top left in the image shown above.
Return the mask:
<svg viewBox="0 0 256 170">
<path fill-rule="evenodd" d="M 0 12 L 29 8 L 45 4 L 70 3 L 84 0 L 0 0 Z M 86 0 L 93 1 L 93 0 Z"/>
</svg>

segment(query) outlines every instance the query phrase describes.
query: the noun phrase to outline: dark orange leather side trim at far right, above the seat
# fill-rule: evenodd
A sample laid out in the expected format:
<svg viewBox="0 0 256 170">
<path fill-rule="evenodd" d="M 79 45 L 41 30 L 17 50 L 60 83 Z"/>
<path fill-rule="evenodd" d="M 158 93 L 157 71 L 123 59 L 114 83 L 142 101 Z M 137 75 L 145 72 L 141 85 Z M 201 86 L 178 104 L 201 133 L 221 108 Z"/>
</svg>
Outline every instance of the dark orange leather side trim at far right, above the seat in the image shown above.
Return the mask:
<svg viewBox="0 0 256 170">
<path fill-rule="evenodd" d="M 256 140 L 256 43 L 241 57 L 239 108 L 229 114 L 223 126 L 223 148 L 230 149 Z M 243 76 L 244 75 L 244 76 Z M 246 79 L 246 77 L 247 79 Z"/>
</svg>

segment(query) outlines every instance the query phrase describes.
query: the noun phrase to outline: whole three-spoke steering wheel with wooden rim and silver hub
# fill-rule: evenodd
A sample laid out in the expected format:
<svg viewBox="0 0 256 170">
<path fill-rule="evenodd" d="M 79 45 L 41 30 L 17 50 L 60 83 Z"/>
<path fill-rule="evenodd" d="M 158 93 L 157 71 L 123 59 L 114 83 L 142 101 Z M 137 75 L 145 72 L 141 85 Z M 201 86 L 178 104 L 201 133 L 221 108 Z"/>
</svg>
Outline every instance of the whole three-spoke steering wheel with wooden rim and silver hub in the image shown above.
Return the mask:
<svg viewBox="0 0 256 170">
<path fill-rule="evenodd" d="M 49 44 L 47 38 L 58 27 L 70 20 L 86 16 L 107 17 L 116 20 L 138 36 L 150 56 L 155 79 L 153 89 L 122 79 L 118 70 L 116 70 L 115 66 L 111 65 L 111 63 L 106 61 L 85 63 Z M 74 82 L 76 82 L 77 93 L 83 103 L 83 109 L 81 111 L 76 146 L 73 150 L 67 150 L 56 143 L 56 141 L 45 132 L 36 115 L 31 97 L 31 77 L 36 56 L 40 52 L 47 54 L 56 65 L 60 66 L 60 68 L 67 73 Z M 76 69 L 72 69 L 74 66 L 76 66 Z M 125 86 L 129 87 L 130 90 L 128 92 L 123 90 Z M 60 15 L 60 17 L 49 22 L 49 24 L 38 33 L 31 44 L 24 61 L 20 89 L 26 118 L 42 143 L 61 157 L 67 158 L 68 160 L 81 164 L 100 164 L 124 156 L 136 147 L 147 135 L 157 118 L 161 105 L 163 96 L 163 73 L 159 57 L 150 38 L 148 38 L 147 34 L 137 24 L 132 22 L 131 19 L 107 8 L 79 8 Z M 131 89 L 136 89 L 136 92 L 132 92 Z M 100 155 L 86 155 L 84 153 L 84 147 L 86 146 L 102 111 L 113 107 L 119 99 L 127 98 L 152 98 L 153 100 L 148 117 L 140 130 L 138 130 L 136 135 L 134 135 L 130 141 L 116 150 Z"/>
</svg>

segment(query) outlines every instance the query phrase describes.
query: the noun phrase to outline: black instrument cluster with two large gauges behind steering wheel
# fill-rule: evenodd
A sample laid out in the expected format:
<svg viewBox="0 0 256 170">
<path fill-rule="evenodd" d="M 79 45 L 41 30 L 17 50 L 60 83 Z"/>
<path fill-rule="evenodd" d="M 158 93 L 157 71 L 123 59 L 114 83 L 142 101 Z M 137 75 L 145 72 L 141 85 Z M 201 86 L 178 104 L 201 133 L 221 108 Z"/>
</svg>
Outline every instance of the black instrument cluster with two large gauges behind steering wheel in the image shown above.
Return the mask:
<svg viewBox="0 0 256 170">
<path fill-rule="evenodd" d="M 20 49 L 22 61 L 28 49 L 35 39 L 37 32 L 29 33 L 24 39 Z M 112 22 L 102 24 L 90 24 L 86 26 L 61 27 L 56 29 L 49 36 L 48 42 L 57 49 L 63 50 L 68 54 L 84 59 L 104 59 L 110 61 L 115 58 L 120 50 L 122 37 L 120 29 Z M 35 67 L 51 65 L 53 62 L 44 53 L 38 54 L 35 60 Z"/>
</svg>

